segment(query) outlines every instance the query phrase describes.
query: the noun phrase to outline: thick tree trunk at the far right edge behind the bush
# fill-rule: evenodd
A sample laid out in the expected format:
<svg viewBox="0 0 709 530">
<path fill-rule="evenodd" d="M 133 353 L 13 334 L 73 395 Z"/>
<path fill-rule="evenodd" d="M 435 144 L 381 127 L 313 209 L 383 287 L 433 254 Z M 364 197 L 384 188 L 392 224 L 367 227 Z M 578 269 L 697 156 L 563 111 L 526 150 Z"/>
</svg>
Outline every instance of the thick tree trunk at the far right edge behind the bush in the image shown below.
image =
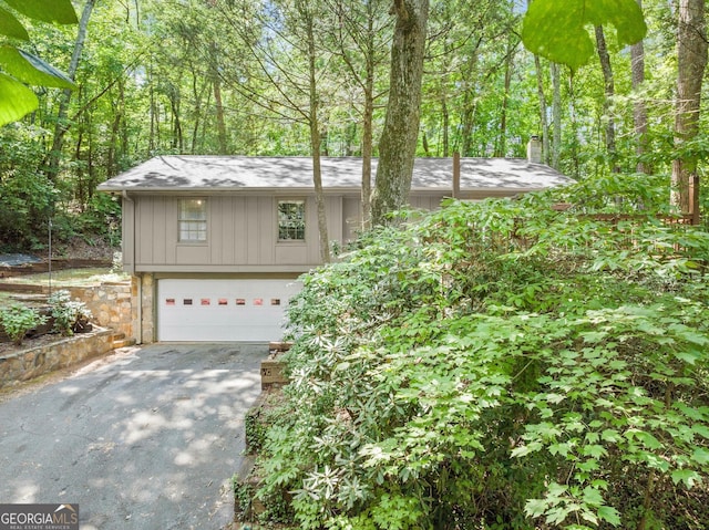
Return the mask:
<svg viewBox="0 0 709 530">
<path fill-rule="evenodd" d="M 675 147 L 681 150 L 699 132 L 701 82 L 707 67 L 707 22 L 705 0 L 679 0 L 677 31 L 677 102 Z M 689 181 L 697 170 L 697 157 L 677 155 L 672 160 L 670 202 L 682 212 L 689 211 Z"/>
</svg>

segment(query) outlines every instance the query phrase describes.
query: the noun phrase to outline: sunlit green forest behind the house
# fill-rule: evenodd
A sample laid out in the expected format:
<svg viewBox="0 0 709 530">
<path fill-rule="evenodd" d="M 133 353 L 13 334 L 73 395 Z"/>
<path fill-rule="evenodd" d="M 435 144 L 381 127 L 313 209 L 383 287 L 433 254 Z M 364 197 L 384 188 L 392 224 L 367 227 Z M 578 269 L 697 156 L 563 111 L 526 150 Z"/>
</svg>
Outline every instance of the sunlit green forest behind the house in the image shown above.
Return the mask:
<svg viewBox="0 0 709 530">
<path fill-rule="evenodd" d="M 522 45 L 526 2 L 431 2 L 417 156 L 521 157 L 538 135 L 544 162 L 576 179 L 669 175 L 678 156 L 701 173 L 706 127 L 679 144 L 674 133 L 680 3 L 645 1 L 633 46 L 597 27 L 594 55 L 572 70 Z M 120 205 L 95 187 L 156 155 L 309 156 L 314 122 L 325 156 L 379 154 L 390 1 L 75 9 L 78 25 L 23 19 L 28 51 L 76 90 L 38 87 L 39 108 L 0 129 L 4 249 L 43 248 L 50 219 L 58 240 L 116 245 Z"/>
</svg>

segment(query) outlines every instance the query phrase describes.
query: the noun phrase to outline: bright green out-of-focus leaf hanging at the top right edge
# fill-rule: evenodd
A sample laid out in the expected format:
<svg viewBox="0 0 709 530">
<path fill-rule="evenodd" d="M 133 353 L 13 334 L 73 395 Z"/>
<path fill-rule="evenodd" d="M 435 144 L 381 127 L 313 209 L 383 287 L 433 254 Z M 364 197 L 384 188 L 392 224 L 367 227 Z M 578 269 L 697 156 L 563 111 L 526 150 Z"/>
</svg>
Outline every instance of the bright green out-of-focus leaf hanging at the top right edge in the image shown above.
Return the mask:
<svg viewBox="0 0 709 530">
<path fill-rule="evenodd" d="M 635 0 L 535 0 L 523 21 L 527 50 L 577 70 L 595 51 L 587 27 L 613 24 L 620 44 L 640 41 L 647 25 Z"/>
</svg>

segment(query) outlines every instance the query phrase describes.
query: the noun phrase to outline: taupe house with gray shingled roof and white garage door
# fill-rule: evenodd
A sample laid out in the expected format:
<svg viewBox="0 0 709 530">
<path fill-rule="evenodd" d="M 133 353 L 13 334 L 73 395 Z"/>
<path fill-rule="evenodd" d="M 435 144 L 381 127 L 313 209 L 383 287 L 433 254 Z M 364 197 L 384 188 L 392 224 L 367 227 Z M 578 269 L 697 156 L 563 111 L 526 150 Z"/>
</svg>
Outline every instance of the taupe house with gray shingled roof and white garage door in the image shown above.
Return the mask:
<svg viewBox="0 0 709 530">
<path fill-rule="evenodd" d="M 502 158 L 461 158 L 453 180 L 452 158 L 417 159 L 411 206 L 569 181 L 547 166 Z M 346 242 L 361 218 L 361 159 L 322 158 L 322 185 L 328 236 Z M 281 337 L 297 278 L 320 264 L 311 158 L 158 156 L 99 190 L 122 197 L 138 342 Z"/>
</svg>

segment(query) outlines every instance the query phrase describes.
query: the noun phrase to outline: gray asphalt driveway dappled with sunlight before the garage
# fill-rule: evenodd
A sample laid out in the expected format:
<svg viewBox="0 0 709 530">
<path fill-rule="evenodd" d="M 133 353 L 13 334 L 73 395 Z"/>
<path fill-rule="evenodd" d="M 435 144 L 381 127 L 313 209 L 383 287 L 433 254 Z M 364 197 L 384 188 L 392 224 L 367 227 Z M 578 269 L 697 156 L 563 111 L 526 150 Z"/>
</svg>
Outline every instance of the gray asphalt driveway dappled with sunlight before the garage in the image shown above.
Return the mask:
<svg viewBox="0 0 709 530">
<path fill-rule="evenodd" d="M 82 530 L 224 528 L 267 354 L 136 347 L 3 399 L 0 503 L 76 502 Z"/>
</svg>

